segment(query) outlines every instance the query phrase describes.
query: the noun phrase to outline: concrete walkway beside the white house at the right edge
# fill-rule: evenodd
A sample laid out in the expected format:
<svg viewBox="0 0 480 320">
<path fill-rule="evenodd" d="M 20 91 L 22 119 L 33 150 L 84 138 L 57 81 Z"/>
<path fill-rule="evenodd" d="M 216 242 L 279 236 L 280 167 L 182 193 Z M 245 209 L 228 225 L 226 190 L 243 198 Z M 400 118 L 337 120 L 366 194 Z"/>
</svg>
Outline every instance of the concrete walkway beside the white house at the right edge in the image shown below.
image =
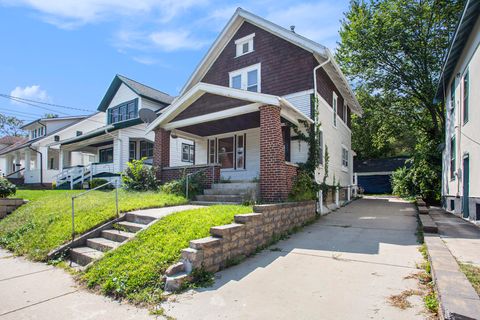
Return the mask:
<svg viewBox="0 0 480 320">
<path fill-rule="evenodd" d="M 480 267 L 480 227 L 441 209 L 430 210 L 438 234 L 460 262 Z"/>
</svg>

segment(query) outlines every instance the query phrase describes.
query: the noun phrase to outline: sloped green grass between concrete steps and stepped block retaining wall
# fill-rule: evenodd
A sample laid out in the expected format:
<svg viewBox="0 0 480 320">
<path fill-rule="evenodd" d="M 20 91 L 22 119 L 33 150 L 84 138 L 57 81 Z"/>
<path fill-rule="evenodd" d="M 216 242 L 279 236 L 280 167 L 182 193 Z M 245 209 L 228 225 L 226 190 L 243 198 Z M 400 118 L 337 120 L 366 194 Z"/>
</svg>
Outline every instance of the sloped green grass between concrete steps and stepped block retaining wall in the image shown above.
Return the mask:
<svg viewBox="0 0 480 320">
<path fill-rule="evenodd" d="M 104 294 L 134 303 L 158 302 L 162 275 L 178 261 L 189 241 L 209 235 L 210 227 L 233 221 L 252 207 L 219 205 L 171 214 L 140 232 L 135 239 L 94 263 L 81 279 Z"/>
</svg>

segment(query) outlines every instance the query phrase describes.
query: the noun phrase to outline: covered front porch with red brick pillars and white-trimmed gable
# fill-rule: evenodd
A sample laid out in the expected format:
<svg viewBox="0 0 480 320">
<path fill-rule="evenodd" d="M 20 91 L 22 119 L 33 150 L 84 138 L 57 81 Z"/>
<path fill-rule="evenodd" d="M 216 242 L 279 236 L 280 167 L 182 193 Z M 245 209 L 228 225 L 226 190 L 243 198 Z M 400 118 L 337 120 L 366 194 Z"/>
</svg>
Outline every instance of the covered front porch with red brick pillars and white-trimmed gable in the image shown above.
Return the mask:
<svg viewBox="0 0 480 320">
<path fill-rule="evenodd" d="M 297 172 L 293 162 L 306 160 L 292 150 L 291 126 L 299 119 L 312 122 L 293 105 L 276 96 L 200 83 L 175 107 L 157 119 L 155 129 L 154 165 L 161 168 L 162 181 L 176 176 L 172 170 L 194 166 L 211 172 L 212 182 L 259 182 L 265 201 L 287 198 Z M 171 137 L 194 141 L 191 166 L 170 163 Z M 218 169 L 202 169 L 208 166 Z"/>
</svg>

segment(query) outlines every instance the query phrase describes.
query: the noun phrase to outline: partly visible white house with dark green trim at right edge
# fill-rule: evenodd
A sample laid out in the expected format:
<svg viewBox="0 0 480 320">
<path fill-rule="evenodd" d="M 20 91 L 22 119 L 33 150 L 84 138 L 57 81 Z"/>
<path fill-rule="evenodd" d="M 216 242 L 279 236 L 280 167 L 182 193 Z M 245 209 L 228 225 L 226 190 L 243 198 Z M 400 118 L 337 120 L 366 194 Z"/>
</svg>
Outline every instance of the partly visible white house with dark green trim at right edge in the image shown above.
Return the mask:
<svg viewBox="0 0 480 320">
<path fill-rule="evenodd" d="M 475 221 L 480 220 L 479 12 L 479 1 L 467 1 L 437 91 L 446 106 L 443 206 Z"/>
</svg>

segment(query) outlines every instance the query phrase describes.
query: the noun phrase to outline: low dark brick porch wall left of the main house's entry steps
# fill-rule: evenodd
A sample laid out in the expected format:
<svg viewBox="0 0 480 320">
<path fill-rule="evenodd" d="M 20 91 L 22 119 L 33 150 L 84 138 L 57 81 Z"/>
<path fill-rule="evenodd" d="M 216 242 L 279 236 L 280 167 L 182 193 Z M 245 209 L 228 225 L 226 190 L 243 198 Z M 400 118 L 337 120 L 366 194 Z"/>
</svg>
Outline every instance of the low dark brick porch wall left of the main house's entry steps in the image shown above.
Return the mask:
<svg viewBox="0 0 480 320">
<path fill-rule="evenodd" d="M 208 164 L 208 165 L 196 165 L 196 166 L 183 166 L 183 167 L 166 167 L 162 168 L 162 183 L 177 180 L 183 177 L 184 174 L 190 174 L 194 172 L 204 172 L 205 179 L 203 181 L 204 188 L 211 188 L 212 184 L 220 182 L 220 165 Z"/>
</svg>

